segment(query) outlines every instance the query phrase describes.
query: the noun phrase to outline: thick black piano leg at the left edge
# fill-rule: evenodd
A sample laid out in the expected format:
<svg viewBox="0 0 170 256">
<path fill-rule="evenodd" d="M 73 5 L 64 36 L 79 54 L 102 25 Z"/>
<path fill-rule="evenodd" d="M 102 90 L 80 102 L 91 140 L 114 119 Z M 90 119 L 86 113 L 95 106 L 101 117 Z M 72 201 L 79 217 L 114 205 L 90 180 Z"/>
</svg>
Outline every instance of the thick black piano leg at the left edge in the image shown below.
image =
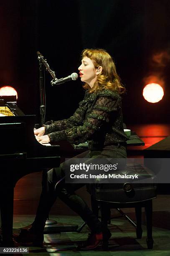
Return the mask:
<svg viewBox="0 0 170 256">
<path fill-rule="evenodd" d="M 0 214 L 3 246 L 13 246 L 13 187 L 0 189 Z"/>
</svg>

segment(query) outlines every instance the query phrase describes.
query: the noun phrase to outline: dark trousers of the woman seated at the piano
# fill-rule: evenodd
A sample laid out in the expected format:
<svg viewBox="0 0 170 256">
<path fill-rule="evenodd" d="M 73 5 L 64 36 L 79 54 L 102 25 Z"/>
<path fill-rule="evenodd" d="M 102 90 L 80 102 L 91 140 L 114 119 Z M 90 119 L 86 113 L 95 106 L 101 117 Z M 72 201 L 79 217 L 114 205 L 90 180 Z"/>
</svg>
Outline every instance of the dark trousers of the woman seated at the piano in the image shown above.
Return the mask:
<svg viewBox="0 0 170 256">
<path fill-rule="evenodd" d="M 74 158 L 124 158 L 126 148 L 124 146 L 106 146 L 102 150 L 86 151 Z M 48 213 L 59 197 L 74 212 L 76 212 L 89 226 L 92 232 L 100 233 L 102 230 L 101 222 L 90 210 L 86 202 L 76 195 L 75 191 L 85 184 L 65 183 L 65 164 L 53 168 L 47 172 L 46 179 L 43 179 L 42 193 L 36 212 L 36 218 L 33 223 L 33 229 L 36 232 L 43 232 Z M 46 182 L 44 182 L 46 180 Z M 60 181 L 60 182 L 58 182 Z M 56 185 L 57 183 L 57 185 Z"/>
</svg>

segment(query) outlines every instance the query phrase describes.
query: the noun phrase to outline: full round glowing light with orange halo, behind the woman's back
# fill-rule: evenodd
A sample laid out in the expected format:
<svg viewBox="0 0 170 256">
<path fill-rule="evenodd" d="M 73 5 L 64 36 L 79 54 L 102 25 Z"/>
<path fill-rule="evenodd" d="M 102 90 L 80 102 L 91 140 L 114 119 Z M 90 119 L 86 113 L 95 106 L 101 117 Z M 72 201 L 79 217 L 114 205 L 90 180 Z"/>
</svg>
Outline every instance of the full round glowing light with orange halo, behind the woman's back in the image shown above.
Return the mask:
<svg viewBox="0 0 170 256">
<path fill-rule="evenodd" d="M 160 86 L 160 84 L 147 84 L 143 89 L 144 99 L 151 103 L 159 102 L 162 100 L 163 95 L 163 88 Z"/>
</svg>

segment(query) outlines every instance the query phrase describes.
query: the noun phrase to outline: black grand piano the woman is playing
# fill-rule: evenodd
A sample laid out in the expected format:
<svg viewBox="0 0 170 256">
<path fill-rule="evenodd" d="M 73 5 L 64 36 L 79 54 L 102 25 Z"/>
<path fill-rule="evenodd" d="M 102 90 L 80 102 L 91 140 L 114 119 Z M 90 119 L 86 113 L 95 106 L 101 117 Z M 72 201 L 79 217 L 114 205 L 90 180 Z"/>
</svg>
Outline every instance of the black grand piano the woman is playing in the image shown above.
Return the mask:
<svg viewBox="0 0 170 256">
<path fill-rule="evenodd" d="M 59 166 L 59 146 L 39 143 L 35 115 L 24 115 L 15 96 L 0 96 L 0 214 L 3 246 L 13 246 L 13 194 L 26 174 Z"/>
</svg>

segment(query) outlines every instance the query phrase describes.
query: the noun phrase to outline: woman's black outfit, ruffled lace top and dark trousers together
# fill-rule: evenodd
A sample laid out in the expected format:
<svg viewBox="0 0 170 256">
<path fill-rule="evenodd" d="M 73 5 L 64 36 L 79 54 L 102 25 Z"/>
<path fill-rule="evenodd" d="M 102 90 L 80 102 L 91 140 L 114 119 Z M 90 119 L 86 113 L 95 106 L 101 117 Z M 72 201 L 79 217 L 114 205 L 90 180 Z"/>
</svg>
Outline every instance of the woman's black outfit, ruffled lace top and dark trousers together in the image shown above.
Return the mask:
<svg viewBox="0 0 170 256">
<path fill-rule="evenodd" d="M 127 136 L 123 131 L 121 97 L 117 92 L 103 90 L 90 94 L 86 91 L 84 100 L 79 103 L 73 116 L 48 122 L 44 126 L 50 143 L 67 140 L 79 144 L 89 141 L 90 150 L 76 156 L 77 158 L 127 157 L 126 147 L 120 146 L 127 140 Z M 102 227 L 99 219 L 86 202 L 75 194 L 75 190 L 85 184 L 66 184 L 62 179 L 66 171 L 64 167 L 63 163 L 47 172 L 47 184 L 43 184 L 33 229 L 43 232 L 48 212 L 58 196 L 81 216 L 94 233 L 100 233 Z"/>
</svg>

